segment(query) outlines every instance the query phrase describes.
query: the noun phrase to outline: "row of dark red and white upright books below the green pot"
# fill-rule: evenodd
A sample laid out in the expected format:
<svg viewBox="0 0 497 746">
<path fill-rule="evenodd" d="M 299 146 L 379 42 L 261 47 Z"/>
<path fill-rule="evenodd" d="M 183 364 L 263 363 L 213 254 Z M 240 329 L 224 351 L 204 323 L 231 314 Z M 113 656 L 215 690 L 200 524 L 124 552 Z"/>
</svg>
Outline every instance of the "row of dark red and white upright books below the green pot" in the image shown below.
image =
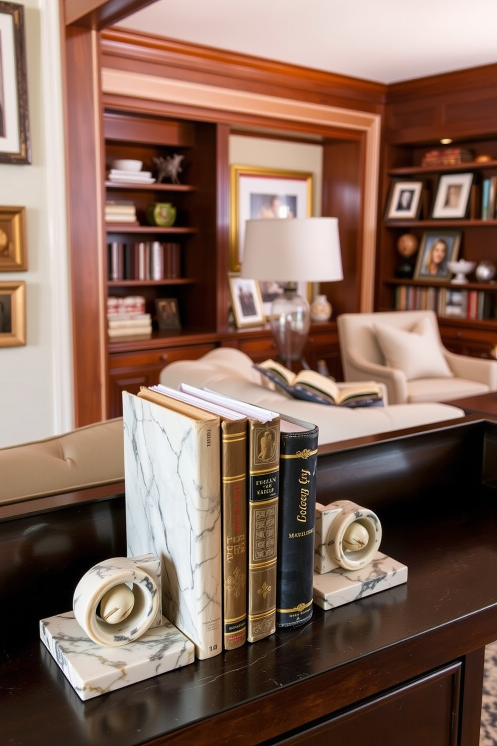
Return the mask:
<svg viewBox="0 0 497 746">
<path fill-rule="evenodd" d="M 142 241 L 107 245 L 109 280 L 177 280 L 181 246 L 177 242 Z"/>
</svg>

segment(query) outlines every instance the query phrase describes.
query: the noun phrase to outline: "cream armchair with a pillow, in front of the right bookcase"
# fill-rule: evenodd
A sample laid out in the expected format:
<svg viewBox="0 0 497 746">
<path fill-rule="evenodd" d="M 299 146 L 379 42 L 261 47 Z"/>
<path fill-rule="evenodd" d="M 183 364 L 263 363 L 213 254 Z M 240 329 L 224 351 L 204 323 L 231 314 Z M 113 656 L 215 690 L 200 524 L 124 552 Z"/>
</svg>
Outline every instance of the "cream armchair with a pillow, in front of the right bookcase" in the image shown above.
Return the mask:
<svg viewBox="0 0 497 746">
<path fill-rule="evenodd" d="M 449 352 L 433 311 L 338 316 L 344 380 L 377 380 L 390 404 L 450 401 L 497 390 L 497 360 Z"/>
</svg>

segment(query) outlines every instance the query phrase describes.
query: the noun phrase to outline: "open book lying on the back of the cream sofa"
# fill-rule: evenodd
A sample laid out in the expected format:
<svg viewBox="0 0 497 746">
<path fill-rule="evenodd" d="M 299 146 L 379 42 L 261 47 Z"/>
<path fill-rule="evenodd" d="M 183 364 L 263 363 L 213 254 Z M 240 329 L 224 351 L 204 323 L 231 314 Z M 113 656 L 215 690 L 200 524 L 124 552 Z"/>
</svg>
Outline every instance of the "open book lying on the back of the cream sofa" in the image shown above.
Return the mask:
<svg viewBox="0 0 497 746">
<path fill-rule="evenodd" d="M 254 368 L 296 399 L 331 404 L 335 407 L 383 405 L 382 386 L 374 380 L 336 383 L 332 378 L 311 370 L 293 373 L 276 360 L 254 363 Z"/>
</svg>

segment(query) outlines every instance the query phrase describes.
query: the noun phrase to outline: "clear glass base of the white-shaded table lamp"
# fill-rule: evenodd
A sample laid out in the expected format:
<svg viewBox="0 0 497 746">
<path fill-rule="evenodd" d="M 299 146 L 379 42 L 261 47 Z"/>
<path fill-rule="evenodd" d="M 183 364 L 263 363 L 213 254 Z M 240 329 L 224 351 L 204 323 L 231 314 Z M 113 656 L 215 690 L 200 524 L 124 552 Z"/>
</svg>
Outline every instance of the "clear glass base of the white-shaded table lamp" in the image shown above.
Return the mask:
<svg viewBox="0 0 497 746">
<path fill-rule="evenodd" d="M 274 299 L 270 325 L 279 357 L 291 368 L 291 361 L 302 357 L 311 326 L 309 304 L 306 298 L 297 295 L 294 283 L 288 284 L 282 295 Z"/>
</svg>

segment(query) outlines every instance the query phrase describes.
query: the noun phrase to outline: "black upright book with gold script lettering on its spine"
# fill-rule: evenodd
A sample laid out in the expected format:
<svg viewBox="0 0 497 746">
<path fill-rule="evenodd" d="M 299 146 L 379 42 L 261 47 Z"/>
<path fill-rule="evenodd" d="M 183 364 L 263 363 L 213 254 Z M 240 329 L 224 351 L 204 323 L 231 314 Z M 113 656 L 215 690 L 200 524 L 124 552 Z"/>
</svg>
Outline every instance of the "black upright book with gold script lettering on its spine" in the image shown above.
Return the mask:
<svg viewBox="0 0 497 746">
<path fill-rule="evenodd" d="M 312 616 L 317 426 L 280 417 L 276 627 Z"/>
</svg>

